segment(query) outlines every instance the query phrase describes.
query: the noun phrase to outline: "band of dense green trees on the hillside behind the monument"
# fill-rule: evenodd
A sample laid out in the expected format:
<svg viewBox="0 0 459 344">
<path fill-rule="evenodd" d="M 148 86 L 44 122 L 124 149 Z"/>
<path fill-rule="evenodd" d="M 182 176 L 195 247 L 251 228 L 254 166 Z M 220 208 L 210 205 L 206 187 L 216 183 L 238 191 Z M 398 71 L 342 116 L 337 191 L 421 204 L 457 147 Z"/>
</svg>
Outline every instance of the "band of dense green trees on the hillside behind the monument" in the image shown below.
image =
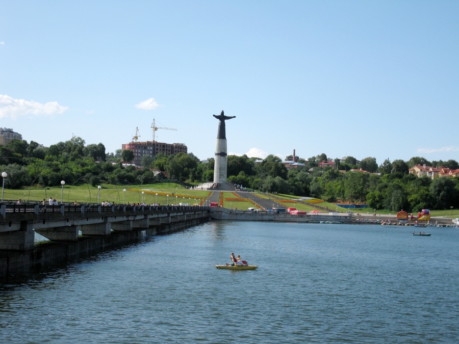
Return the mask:
<svg viewBox="0 0 459 344">
<path fill-rule="evenodd" d="M 140 169 L 125 166 L 133 159 L 130 150 L 106 153 L 105 146 L 85 144 L 79 137 L 50 147 L 31 141 L 12 140 L 0 146 L 0 168 L 7 172 L 5 187 L 11 189 L 49 187 L 66 183 L 132 184 L 163 181 L 165 171 L 170 180 L 178 182 L 206 182 L 213 180 L 214 158 L 200 162 L 193 153 L 155 157 L 144 156 Z M 287 157 L 288 158 L 288 157 Z M 286 159 L 287 159 L 286 158 Z M 277 192 L 296 196 L 311 196 L 329 202 L 366 203 L 371 208 L 392 211 L 419 211 L 459 207 L 459 180 L 439 177 L 418 178 L 409 174 L 414 165 L 459 168 L 454 160 L 429 162 L 415 156 L 409 161 L 385 160 L 377 165 L 376 158 L 366 157 L 358 162 L 348 156 L 344 162 L 335 159 L 335 168 L 320 169 L 318 164 L 328 161 L 325 153 L 299 160 L 304 167 L 288 170 L 281 158 L 269 155 L 260 158 L 246 155 L 227 157 L 228 181 L 261 192 Z M 256 163 L 257 162 L 257 163 Z M 366 172 L 352 171 L 362 169 Z"/>
</svg>

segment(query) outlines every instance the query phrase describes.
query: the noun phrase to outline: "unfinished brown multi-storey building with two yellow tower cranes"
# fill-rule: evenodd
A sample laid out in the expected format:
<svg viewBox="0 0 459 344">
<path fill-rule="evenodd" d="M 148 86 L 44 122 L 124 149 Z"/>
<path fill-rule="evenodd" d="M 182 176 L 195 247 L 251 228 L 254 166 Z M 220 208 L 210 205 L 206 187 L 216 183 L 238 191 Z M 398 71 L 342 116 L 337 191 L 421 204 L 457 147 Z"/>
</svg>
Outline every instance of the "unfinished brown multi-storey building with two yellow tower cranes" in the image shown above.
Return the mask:
<svg viewBox="0 0 459 344">
<path fill-rule="evenodd" d="M 168 129 L 168 130 L 177 130 L 174 128 L 159 127 L 156 125 L 155 120 L 151 124 L 151 129 L 153 131 L 153 141 L 138 141 L 139 129 L 136 129 L 136 134 L 132 138 L 130 143 L 122 144 L 122 150 L 131 149 L 134 152 L 133 164 L 136 166 L 141 166 L 142 157 L 145 155 L 155 157 L 158 153 L 164 153 L 167 155 L 179 154 L 180 152 L 188 153 L 188 147 L 184 143 L 164 143 L 156 141 L 156 131 L 158 129 Z"/>
</svg>

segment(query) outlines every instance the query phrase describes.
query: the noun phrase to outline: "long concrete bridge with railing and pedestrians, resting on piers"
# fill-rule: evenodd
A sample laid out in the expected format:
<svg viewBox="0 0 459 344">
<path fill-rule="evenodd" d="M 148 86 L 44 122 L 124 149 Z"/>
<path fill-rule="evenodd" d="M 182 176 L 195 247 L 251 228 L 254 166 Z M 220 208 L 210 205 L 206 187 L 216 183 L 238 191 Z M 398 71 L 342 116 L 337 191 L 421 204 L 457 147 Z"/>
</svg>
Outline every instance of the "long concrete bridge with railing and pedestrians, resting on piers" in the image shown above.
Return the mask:
<svg viewBox="0 0 459 344">
<path fill-rule="evenodd" d="M 53 242 L 78 242 L 83 236 L 159 229 L 209 219 L 205 206 L 128 206 L 0 204 L 0 250 L 28 251 L 35 233 Z M 192 225 L 191 224 L 191 225 Z M 155 234 L 153 233 L 153 234 Z"/>
</svg>

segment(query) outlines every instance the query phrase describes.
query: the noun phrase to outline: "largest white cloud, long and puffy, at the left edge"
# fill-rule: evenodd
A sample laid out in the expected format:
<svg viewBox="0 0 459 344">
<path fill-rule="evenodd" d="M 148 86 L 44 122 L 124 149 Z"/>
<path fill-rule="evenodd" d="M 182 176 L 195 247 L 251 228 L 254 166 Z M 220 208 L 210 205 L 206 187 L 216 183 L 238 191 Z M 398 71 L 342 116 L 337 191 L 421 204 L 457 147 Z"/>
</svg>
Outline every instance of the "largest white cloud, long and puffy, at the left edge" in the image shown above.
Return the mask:
<svg viewBox="0 0 459 344">
<path fill-rule="evenodd" d="M 52 116 L 68 110 L 57 101 L 39 103 L 33 100 L 14 99 L 6 94 L 0 94 L 0 118 L 16 118 L 20 116 Z"/>
</svg>

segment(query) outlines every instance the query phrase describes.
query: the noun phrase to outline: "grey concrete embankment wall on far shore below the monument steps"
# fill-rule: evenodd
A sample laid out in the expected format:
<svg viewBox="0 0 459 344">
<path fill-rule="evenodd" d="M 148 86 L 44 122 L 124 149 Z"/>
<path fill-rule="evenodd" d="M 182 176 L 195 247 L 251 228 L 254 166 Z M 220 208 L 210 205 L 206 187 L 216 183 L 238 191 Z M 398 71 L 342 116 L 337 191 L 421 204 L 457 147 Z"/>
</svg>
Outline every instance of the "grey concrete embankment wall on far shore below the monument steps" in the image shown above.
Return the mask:
<svg viewBox="0 0 459 344">
<path fill-rule="evenodd" d="M 352 223 L 352 217 L 347 215 L 290 215 L 276 214 L 271 211 L 234 211 L 226 208 L 210 208 L 210 216 L 214 220 L 238 221 L 271 221 L 271 222 L 341 222 Z"/>
</svg>

